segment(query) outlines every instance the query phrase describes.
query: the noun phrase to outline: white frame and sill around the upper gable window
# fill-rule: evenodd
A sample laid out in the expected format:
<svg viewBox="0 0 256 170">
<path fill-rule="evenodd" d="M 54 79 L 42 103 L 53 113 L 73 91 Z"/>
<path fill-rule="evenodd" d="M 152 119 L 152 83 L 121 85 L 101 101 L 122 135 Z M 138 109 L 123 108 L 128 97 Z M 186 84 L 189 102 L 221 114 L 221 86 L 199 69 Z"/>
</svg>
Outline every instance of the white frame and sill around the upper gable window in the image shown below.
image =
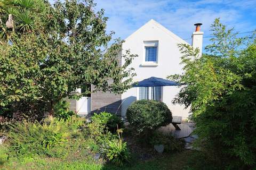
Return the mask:
<svg viewBox="0 0 256 170">
<path fill-rule="evenodd" d="M 156 61 L 146 61 L 146 47 L 156 47 Z M 143 61 L 142 66 L 157 66 L 158 65 L 158 40 L 157 41 L 143 41 Z"/>
</svg>

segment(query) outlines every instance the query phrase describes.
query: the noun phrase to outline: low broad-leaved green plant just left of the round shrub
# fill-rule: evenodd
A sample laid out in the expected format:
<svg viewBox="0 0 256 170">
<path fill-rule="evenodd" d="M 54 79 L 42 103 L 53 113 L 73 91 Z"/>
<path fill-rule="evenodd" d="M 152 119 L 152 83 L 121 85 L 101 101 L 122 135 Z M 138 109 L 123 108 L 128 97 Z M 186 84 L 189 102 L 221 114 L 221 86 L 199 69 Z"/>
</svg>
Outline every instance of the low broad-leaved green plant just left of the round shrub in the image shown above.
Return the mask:
<svg viewBox="0 0 256 170">
<path fill-rule="evenodd" d="M 100 114 L 94 113 L 92 122 L 106 126 L 112 133 L 116 133 L 117 128 L 123 128 L 124 123 L 120 117 L 115 114 L 101 112 Z"/>
</svg>

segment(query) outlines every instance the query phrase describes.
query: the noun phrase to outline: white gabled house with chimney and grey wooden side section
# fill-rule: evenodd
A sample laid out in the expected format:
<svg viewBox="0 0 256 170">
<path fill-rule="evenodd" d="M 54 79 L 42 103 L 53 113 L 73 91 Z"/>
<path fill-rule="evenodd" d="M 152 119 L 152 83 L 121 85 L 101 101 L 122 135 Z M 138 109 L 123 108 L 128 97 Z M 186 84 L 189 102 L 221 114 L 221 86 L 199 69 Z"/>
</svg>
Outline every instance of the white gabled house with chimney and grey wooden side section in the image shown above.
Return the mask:
<svg viewBox="0 0 256 170">
<path fill-rule="evenodd" d="M 202 52 L 203 32 L 200 31 L 200 24 L 195 25 L 197 27 L 192 34 L 192 46 L 199 48 Z M 154 20 L 150 20 L 132 33 L 122 44 L 122 54 L 125 54 L 127 49 L 130 49 L 131 54 L 138 54 L 138 57 L 130 65 L 137 73 L 133 81 L 141 81 L 150 77 L 166 79 L 168 75 L 182 73 L 181 53 L 177 46 L 181 43 L 187 44 L 185 40 Z M 122 60 L 121 64 L 123 63 Z M 175 86 L 154 87 L 154 94 L 151 87 L 131 88 L 122 95 L 97 92 L 86 100 L 87 108 L 83 108 L 81 101 L 78 101 L 77 104 L 80 105 L 80 109 L 82 108 L 87 112 L 108 111 L 125 116 L 127 107 L 133 101 L 155 99 L 163 101 L 170 108 L 173 115 L 187 118 L 189 109 L 172 104 L 172 100 L 178 92 L 179 88 Z M 85 98 L 81 100 L 85 100 Z M 88 109 L 89 107 L 91 108 Z"/>
</svg>

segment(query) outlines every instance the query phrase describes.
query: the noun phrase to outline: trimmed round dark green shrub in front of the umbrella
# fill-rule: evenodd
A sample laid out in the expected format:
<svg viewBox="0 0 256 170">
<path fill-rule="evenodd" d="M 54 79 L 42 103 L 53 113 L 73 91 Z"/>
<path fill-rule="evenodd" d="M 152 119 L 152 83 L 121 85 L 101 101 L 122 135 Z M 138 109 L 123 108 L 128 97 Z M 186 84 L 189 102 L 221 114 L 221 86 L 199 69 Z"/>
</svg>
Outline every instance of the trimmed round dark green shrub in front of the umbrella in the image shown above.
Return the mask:
<svg viewBox="0 0 256 170">
<path fill-rule="evenodd" d="M 126 112 L 127 120 L 138 133 L 153 132 L 155 129 L 172 122 L 170 109 L 161 101 L 138 100 Z"/>
</svg>

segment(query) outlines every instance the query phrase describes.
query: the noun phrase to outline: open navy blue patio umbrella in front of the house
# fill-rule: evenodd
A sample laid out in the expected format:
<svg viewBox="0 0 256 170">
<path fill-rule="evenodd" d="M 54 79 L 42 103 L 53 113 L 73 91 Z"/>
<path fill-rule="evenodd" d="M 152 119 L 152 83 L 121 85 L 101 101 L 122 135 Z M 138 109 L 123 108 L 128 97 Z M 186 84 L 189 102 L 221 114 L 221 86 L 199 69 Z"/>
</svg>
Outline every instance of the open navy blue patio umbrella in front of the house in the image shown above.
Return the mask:
<svg viewBox="0 0 256 170">
<path fill-rule="evenodd" d="M 165 80 L 161 78 L 151 77 L 134 83 L 132 87 L 155 87 L 155 86 L 178 86 L 175 81 Z"/>
</svg>

